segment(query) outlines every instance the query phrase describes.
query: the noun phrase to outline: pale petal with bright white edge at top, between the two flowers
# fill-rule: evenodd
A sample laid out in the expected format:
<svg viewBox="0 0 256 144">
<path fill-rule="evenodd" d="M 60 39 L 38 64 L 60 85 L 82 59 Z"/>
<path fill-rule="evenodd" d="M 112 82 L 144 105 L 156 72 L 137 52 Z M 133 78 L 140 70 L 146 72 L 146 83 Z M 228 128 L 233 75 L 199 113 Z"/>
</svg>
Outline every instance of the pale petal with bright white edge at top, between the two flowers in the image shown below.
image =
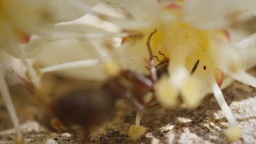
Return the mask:
<svg viewBox="0 0 256 144">
<path fill-rule="evenodd" d="M 78 2 L 78 1 L 77 1 Z M 79 5 L 80 6 L 80 5 Z M 87 9 L 81 7 L 81 9 Z M 86 11 L 86 10 L 85 10 Z M 86 14 L 77 20 L 71 22 L 63 22 L 59 25 L 71 25 L 71 24 L 84 24 L 93 27 L 102 28 L 110 32 L 120 32 L 121 28 L 124 29 L 135 29 L 145 28 L 150 25 L 149 22 L 137 22 L 131 20 L 131 15 L 127 10 L 120 5 L 110 4 L 106 2 L 100 2 L 91 9 L 91 14 Z M 94 14 L 95 13 L 95 14 Z M 104 14 L 103 16 L 98 16 Z"/>
</svg>

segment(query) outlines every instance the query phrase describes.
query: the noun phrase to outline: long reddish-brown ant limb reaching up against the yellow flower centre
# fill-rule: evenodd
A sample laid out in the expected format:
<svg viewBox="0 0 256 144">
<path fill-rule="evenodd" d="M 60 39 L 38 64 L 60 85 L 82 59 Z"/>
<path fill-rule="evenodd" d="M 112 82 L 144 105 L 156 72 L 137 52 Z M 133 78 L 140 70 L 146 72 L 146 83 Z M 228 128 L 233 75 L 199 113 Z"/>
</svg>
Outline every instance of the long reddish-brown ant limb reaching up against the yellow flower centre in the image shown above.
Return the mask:
<svg viewBox="0 0 256 144">
<path fill-rule="evenodd" d="M 156 69 L 155 69 L 155 63 L 153 61 L 153 52 L 151 50 L 150 47 L 150 39 L 152 38 L 152 35 L 156 33 L 156 29 L 154 30 L 154 32 L 152 32 L 149 37 L 148 37 L 148 41 L 147 41 L 147 46 L 148 46 L 148 51 L 149 51 L 149 67 L 150 67 L 150 73 L 151 73 L 151 78 L 153 80 L 153 82 L 156 82 L 156 80 L 158 80 L 158 75 L 156 75 Z"/>
</svg>

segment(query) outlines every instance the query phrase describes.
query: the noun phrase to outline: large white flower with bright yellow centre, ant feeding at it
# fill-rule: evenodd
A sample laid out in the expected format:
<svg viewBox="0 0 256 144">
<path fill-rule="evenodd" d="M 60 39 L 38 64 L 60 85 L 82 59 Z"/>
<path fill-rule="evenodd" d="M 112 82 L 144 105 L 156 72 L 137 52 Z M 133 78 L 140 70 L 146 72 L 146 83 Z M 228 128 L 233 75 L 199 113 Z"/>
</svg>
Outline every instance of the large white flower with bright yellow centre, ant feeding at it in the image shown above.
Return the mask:
<svg viewBox="0 0 256 144">
<path fill-rule="evenodd" d="M 120 62 L 124 68 L 147 73 L 142 61 L 149 57 L 148 35 L 156 29 L 150 41 L 154 55 L 160 57 L 158 51 L 161 51 L 170 58 L 168 77 L 162 77 L 156 83 L 156 98 L 164 101 L 162 104 L 165 106 L 174 106 L 173 102 L 181 92 L 184 103 L 193 108 L 204 95 L 213 92 L 231 126 L 237 126 L 219 87 L 228 77 L 256 87 L 255 77 L 245 72 L 247 65 L 244 64 L 255 57 L 256 35 L 235 44 L 225 28 L 252 17 L 250 14 L 255 14 L 255 1 L 174 1 L 170 5 L 153 0 L 108 2 L 122 5 L 132 17 L 124 20 L 104 17 L 103 20 L 144 36 L 142 39 L 126 38 L 117 50 L 123 59 L 135 59 L 129 65 Z M 198 68 L 189 75 L 197 60 L 200 60 Z M 252 65 L 255 61 L 251 61 L 248 67 Z M 168 86 L 171 92 L 166 88 Z M 173 99 L 170 103 L 166 100 L 169 98 Z"/>
</svg>

